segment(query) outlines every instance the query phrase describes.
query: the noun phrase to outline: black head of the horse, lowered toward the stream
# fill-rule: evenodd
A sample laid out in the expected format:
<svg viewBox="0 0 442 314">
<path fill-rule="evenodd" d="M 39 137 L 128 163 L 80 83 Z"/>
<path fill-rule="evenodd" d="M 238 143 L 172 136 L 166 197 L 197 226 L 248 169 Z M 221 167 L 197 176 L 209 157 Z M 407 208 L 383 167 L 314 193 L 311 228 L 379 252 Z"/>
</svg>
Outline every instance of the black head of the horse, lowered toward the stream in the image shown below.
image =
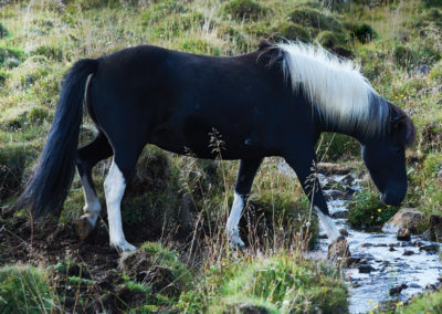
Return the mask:
<svg viewBox="0 0 442 314">
<path fill-rule="evenodd" d="M 414 142 L 414 125 L 393 104 L 381 138 L 361 143 L 362 158 L 386 205 L 399 205 L 407 193 L 406 148 Z"/>
</svg>

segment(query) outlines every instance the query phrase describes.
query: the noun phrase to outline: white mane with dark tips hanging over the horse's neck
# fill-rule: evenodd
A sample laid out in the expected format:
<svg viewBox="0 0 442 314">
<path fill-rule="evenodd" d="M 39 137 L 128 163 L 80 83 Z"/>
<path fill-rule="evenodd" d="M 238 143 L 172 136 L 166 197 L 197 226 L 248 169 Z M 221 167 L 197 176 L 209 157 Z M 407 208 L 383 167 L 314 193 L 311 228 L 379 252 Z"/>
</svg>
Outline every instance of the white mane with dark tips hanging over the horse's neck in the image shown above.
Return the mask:
<svg viewBox="0 0 442 314">
<path fill-rule="evenodd" d="M 275 46 L 284 52 L 283 72 L 291 77 L 293 91 L 302 88 L 327 126 L 366 135 L 382 133 L 389 106 L 357 64 L 319 45 L 288 42 Z"/>
</svg>

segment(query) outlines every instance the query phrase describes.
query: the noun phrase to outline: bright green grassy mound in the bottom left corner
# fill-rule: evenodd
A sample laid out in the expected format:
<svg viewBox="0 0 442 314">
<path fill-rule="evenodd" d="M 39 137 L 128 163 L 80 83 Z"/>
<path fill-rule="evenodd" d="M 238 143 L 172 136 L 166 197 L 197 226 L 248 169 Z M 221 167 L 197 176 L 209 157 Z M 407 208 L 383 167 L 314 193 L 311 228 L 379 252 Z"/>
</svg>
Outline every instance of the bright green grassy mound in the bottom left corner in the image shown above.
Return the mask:
<svg viewBox="0 0 442 314">
<path fill-rule="evenodd" d="M 55 306 L 56 299 L 42 269 L 28 265 L 0 269 L 1 313 L 48 313 Z"/>
</svg>

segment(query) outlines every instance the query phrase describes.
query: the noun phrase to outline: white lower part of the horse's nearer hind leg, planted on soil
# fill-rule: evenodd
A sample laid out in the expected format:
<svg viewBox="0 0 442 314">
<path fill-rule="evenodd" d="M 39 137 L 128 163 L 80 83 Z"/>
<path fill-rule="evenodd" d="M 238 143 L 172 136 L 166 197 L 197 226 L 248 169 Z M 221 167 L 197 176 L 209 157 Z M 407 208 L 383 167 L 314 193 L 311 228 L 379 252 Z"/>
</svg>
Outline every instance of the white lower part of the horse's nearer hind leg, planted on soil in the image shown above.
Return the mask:
<svg viewBox="0 0 442 314">
<path fill-rule="evenodd" d="M 126 238 L 123 233 L 120 206 L 125 189 L 126 181 L 123 172 L 118 169 L 115 160 L 113 160 L 109 174 L 104 181 L 110 245 L 118 248 L 122 251 L 135 251 L 136 248 L 126 241 Z"/>
</svg>

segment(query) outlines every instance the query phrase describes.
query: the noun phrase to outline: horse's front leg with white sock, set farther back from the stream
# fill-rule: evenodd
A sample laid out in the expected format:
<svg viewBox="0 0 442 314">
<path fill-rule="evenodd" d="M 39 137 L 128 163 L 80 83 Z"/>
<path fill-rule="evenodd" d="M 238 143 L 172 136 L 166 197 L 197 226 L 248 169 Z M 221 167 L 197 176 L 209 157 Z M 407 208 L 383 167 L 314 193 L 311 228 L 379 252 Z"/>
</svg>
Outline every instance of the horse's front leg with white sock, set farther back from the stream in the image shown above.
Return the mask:
<svg viewBox="0 0 442 314">
<path fill-rule="evenodd" d="M 244 242 L 240 238 L 238 224 L 241 219 L 250 189 L 252 188 L 253 178 L 260 167 L 262 158 L 242 159 L 238 171 L 236 185 L 234 190 L 234 199 L 232 210 L 225 227 L 225 233 L 229 238 L 229 243 L 232 247 L 243 247 Z"/>
</svg>

